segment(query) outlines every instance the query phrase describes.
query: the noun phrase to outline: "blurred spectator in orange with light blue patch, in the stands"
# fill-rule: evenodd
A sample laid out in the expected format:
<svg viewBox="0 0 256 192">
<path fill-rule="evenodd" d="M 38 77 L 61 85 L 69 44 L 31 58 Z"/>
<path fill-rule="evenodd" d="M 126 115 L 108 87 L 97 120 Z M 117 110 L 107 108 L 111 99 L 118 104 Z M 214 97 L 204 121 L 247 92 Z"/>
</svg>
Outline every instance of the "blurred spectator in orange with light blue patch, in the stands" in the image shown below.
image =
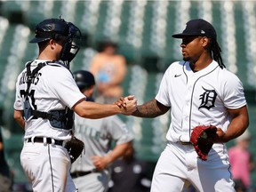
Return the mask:
<svg viewBox="0 0 256 192">
<path fill-rule="evenodd" d="M 100 52 L 92 58 L 90 71 L 96 78 L 96 101 L 113 103 L 123 95 L 124 77 L 126 75 L 126 60 L 117 54 L 117 44 L 105 42 L 101 44 Z"/>
</svg>

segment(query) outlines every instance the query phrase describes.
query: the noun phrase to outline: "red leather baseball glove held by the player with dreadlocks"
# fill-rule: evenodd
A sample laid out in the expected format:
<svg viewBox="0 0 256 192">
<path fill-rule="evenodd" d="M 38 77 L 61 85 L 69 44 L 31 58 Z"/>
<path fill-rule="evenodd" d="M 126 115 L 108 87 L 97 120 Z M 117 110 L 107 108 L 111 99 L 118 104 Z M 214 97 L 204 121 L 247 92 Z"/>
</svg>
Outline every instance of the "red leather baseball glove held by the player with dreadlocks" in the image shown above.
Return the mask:
<svg viewBox="0 0 256 192">
<path fill-rule="evenodd" d="M 203 161 L 207 160 L 209 151 L 212 148 L 213 142 L 209 139 L 216 134 L 217 127 L 213 125 L 197 125 L 191 134 L 190 142 L 196 149 L 196 153 Z"/>
</svg>

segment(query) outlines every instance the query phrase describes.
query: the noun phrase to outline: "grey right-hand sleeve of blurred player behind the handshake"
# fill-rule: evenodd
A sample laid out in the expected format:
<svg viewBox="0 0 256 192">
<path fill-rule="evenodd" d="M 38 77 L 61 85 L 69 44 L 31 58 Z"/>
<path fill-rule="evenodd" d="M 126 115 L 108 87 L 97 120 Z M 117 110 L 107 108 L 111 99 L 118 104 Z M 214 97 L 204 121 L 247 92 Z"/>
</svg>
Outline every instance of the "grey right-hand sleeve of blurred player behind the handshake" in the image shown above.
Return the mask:
<svg viewBox="0 0 256 192">
<path fill-rule="evenodd" d="M 116 144 L 123 144 L 133 139 L 132 132 L 128 129 L 126 124 L 118 116 L 108 116 L 108 133 Z"/>
</svg>

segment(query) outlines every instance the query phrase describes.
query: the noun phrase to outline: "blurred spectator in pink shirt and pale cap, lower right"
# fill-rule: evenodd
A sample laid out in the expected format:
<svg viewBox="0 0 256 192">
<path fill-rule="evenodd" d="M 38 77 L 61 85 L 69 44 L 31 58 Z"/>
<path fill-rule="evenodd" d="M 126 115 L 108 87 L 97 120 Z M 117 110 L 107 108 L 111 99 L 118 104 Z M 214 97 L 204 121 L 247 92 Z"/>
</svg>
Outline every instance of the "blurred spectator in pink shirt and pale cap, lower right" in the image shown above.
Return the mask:
<svg viewBox="0 0 256 192">
<path fill-rule="evenodd" d="M 236 138 L 236 145 L 228 149 L 231 172 L 236 183 L 236 191 L 246 191 L 251 187 L 251 172 L 254 169 L 252 154 L 249 151 L 251 134 L 246 130 Z"/>
</svg>

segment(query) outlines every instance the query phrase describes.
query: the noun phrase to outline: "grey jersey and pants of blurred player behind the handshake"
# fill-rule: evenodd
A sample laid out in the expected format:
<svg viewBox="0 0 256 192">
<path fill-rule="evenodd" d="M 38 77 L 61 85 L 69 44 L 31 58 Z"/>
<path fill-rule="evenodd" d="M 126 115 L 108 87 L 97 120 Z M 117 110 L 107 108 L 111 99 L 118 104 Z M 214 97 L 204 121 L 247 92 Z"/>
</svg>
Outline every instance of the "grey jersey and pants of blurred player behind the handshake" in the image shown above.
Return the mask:
<svg viewBox="0 0 256 192">
<path fill-rule="evenodd" d="M 132 132 L 118 116 L 108 116 L 100 119 L 84 119 L 75 116 L 75 135 L 84 141 L 85 154 L 78 157 L 71 166 L 71 173 L 91 172 L 84 176 L 73 178 L 79 191 L 100 192 L 108 190 L 110 172 L 92 172 L 92 156 L 106 156 L 116 143 L 123 144 L 132 140 Z M 113 143 L 114 141 L 114 143 Z"/>
</svg>

